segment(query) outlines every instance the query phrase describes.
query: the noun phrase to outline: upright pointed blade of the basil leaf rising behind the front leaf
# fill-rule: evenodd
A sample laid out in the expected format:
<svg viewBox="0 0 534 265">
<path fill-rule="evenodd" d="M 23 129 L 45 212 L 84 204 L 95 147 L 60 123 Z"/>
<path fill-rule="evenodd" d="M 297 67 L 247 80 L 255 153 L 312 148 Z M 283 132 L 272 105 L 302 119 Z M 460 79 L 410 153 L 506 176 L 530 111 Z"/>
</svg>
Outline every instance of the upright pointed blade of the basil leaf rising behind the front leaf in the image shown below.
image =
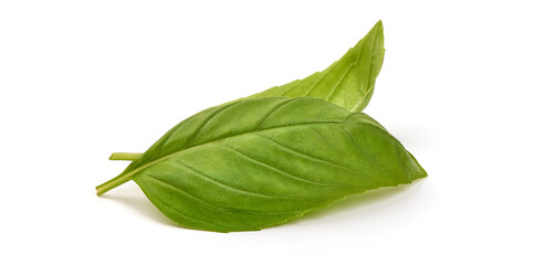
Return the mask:
<svg viewBox="0 0 534 265">
<path fill-rule="evenodd" d="M 384 29 L 381 21 L 378 21 L 364 39 L 323 72 L 248 98 L 308 96 L 325 99 L 352 112 L 362 112 L 375 89 L 384 52 Z"/>
</svg>

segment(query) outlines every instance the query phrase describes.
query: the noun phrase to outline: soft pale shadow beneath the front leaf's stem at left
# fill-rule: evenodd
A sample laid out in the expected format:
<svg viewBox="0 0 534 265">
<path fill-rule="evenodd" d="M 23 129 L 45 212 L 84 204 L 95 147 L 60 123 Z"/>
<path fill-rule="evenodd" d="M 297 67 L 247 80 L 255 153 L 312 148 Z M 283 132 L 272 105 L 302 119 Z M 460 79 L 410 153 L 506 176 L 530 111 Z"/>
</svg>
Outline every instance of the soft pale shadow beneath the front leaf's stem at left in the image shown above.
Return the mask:
<svg viewBox="0 0 534 265">
<path fill-rule="evenodd" d="M 123 187 L 122 187 L 123 188 Z M 146 197 L 139 189 L 127 189 L 124 187 L 121 191 L 114 190 L 114 192 L 105 193 L 101 198 L 115 201 L 134 209 L 140 215 L 147 216 L 158 223 L 177 226 L 176 223 L 167 219 Z"/>
</svg>

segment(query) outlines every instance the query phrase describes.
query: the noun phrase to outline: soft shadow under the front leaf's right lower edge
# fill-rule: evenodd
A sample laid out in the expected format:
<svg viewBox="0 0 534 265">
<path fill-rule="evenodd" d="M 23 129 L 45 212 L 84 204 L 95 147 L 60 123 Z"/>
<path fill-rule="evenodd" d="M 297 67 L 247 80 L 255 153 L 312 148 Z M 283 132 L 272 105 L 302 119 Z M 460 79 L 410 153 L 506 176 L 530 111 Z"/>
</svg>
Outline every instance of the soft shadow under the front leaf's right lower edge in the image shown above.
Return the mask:
<svg viewBox="0 0 534 265">
<path fill-rule="evenodd" d="M 354 212 L 355 210 L 362 211 L 365 206 L 365 210 L 377 210 L 386 204 L 397 203 L 400 201 L 401 198 L 406 198 L 409 194 L 413 193 L 419 186 L 425 181 L 423 179 L 415 180 L 410 184 L 401 184 L 398 187 L 387 187 L 380 188 L 377 190 L 370 190 L 365 193 L 349 195 L 344 200 L 339 200 L 333 202 L 331 205 L 313 211 L 310 213 L 304 214 L 304 216 L 295 220 L 291 220 L 289 224 L 295 224 L 300 222 L 306 222 L 311 220 L 317 220 L 325 216 L 332 216 L 334 213 L 339 214 L 343 212 Z"/>
</svg>

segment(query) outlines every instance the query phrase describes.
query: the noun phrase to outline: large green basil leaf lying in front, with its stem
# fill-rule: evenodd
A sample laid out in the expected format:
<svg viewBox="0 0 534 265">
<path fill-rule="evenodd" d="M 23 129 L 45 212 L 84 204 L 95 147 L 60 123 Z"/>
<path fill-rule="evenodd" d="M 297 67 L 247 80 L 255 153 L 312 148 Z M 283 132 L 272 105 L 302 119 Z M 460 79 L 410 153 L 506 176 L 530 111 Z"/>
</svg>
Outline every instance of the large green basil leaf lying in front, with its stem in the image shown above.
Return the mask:
<svg viewBox="0 0 534 265">
<path fill-rule="evenodd" d="M 281 224 L 426 176 L 365 114 L 311 97 L 269 97 L 184 120 L 97 191 L 134 180 L 178 224 L 230 232 Z"/>
</svg>

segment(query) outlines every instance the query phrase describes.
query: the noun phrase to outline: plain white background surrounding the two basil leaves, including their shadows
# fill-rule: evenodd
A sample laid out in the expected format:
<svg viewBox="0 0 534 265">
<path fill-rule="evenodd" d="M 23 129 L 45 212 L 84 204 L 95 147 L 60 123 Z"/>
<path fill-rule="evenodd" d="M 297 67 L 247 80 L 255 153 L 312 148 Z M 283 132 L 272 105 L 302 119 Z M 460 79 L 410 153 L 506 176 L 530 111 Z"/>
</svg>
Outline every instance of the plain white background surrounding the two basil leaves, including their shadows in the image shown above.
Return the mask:
<svg viewBox="0 0 534 265">
<path fill-rule="evenodd" d="M 534 264 L 531 1 L 188 2 L 0 2 L 1 264 Z M 379 19 L 365 112 L 427 179 L 229 234 L 133 182 L 96 197 L 113 151 L 323 70 Z"/>
</svg>

